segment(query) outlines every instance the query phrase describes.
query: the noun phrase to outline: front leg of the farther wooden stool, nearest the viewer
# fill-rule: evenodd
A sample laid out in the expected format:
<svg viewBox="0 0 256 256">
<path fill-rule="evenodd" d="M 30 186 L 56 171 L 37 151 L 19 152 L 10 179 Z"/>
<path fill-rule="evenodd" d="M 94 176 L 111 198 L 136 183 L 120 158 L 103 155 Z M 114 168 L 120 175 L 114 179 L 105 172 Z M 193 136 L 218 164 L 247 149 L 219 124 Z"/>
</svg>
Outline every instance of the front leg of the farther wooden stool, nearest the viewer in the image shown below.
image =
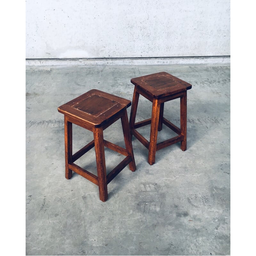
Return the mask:
<svg viewBox="0 0 256 256">
<path fill-rule="evenodd" d="M 155 163 L 155 158 L 156 158 L 156 142 L 157 142 L 159 116 L 160 116 L 160 103 L 158 102 L 157 99 L 154 99 L 153 106 L 152 106 L 150 141 L 149 141 L 149 148 L 148 148 L 148 163 L 150 165 Z"/>
</svg>

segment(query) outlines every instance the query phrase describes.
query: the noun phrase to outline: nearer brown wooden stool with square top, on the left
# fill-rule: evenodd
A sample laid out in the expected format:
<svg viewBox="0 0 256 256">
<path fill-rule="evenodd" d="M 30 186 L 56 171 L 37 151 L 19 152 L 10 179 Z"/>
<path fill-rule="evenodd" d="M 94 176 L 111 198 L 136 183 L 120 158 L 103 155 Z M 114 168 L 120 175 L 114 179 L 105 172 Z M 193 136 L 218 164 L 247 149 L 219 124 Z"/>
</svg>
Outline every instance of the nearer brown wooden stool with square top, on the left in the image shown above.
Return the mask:
<svg viewBox="0 0 256 256">
<path fill-rule="evenodd" d="M 60 106 L 58 111 L 64 114 L 65 127 L 65 165 L 66 179 L 72 177 L 72 171 L 99 186 L 100 200 L 108 199 L 107 184 L 129 164 L 134 172 L 136 165 L 133 156 L 132 140 L 126 108 L 131 106 L 130 100 L 114 96 L 112 94 L 91 90 L 74 100 Z M 125 147 L 121 148 L 103 139 L 103 130 L 121 118 Z M 72 124 L 79 125 L 93 132 L 94 140 L 72 155 Z M 124 160 L 118 164 L 108 175 L 106 174 L 104 146 L 124 156 Z M 98 177 L 88 172 L 74 162 L 95 147 Z"/>
</svg>

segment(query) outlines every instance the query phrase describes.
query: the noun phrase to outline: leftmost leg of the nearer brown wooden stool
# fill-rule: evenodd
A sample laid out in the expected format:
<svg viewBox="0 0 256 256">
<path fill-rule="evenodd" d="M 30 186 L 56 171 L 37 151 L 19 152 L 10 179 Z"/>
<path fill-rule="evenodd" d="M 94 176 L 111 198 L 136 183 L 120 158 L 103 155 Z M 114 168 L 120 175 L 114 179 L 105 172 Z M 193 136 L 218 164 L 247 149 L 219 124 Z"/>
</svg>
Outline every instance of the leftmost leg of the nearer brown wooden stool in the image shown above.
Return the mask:
<svg viewBox="0 0 256 256">
<path fill-rule="evenodd" d="M 68 163 L 72 162 L 72 123 L 68 122 L 68 117 L 64 115 L 64 137 L 65 137 L 65 177 L 72 178 L 72 170 L 68 169 Z"/>
</svg>

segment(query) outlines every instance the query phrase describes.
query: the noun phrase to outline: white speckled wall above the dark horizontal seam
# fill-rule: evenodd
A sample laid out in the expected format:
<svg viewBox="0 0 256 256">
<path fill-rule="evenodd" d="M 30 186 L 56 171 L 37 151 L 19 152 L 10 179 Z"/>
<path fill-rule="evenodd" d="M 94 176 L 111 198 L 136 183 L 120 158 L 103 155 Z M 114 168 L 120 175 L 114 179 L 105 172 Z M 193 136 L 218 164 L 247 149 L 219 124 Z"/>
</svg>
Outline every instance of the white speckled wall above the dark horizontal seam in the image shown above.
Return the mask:
<svg viewBox="0 0 256 256">
<path fill-rule="evenodd" d="M 26 58 L 230 55 L 228 0 L 27 0 Z"/>
</svg>

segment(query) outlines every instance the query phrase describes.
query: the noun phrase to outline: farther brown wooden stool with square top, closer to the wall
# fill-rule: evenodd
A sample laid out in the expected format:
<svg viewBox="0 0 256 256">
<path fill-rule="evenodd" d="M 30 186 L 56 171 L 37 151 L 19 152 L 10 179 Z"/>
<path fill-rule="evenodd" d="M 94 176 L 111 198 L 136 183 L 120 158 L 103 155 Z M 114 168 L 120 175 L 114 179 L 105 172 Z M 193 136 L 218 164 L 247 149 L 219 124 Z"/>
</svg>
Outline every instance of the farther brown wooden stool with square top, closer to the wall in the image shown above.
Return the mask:
<svg viewBox="0 0 256 256">
<path fill-rule="evenodd" d="M 157 150 L 179 141 L 181 142 L 180 148 L 185 151 L 187 149 L 187 90 L 191 89 L 192 85 L 166 72 L 132 78 L 131 83 L 135 85 L 130 115 L 131 133 L 148 148 L 148 163 L 151 165 L 155 163 Z M 153 102 L 152 116 L 135 123 L 140 94 Z M 164 102 L 177 98 L 180 98 L 180 128 L 163 117 Z M 135 130 L 147 124 L 151 124 L 150 141 Z M 156 143 L 157 132 L 162 130 L 163 124 L 176 132 L 178 136 Z"/>
</svg>

